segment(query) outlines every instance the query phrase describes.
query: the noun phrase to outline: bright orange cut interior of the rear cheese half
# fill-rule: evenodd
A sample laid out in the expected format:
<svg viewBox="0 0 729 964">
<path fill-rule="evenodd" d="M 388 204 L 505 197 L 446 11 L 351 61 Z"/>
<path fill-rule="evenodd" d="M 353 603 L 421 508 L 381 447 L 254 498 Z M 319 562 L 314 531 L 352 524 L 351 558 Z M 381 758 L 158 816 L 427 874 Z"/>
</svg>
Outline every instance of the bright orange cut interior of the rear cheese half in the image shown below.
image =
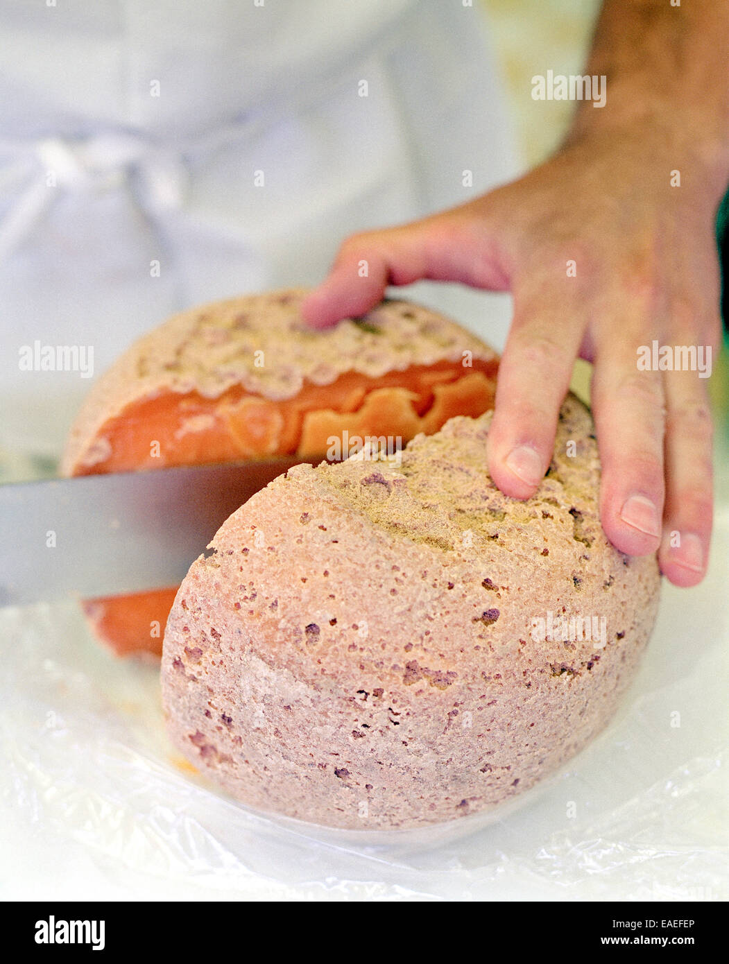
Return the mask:
<svg viewBox="0 0 729 964">
<path fill-rule="evenodd" d="M 344 431 L 350 440 L 399 437 L 404 446 L 419 432 L 437 432 L 453 415 L 476 416 L 493 408 L 497 364 L 477 359 L 472 367 L 438 362 L 388 372 L 378 379 L 350 371 L 331 385 L 306 383 L 298 395 L 284 401 L 250 394 L 241 386 L 217 398 L 166 390 L 133 402 L 108 419 L 87 446 L 102 458 L 87 465 L 79 461 L 73 474 L 276 455 L 323 458 Z M 161 655 L 176 589 L 88 601 L 86 614 L 96 635 L 117 655 Z"/>
</svg>

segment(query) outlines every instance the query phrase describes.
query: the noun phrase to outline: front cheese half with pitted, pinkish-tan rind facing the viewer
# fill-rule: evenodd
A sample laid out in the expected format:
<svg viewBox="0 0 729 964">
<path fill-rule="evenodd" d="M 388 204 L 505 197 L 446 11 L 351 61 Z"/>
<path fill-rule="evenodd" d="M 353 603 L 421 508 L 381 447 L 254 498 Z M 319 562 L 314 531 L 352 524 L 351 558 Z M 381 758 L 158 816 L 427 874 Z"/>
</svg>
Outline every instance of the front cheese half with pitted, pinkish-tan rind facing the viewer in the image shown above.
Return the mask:
<svg viewBox="0 0 729 964">
<path fill-rule="evenodd" d="M 657 560 L 608 543 L 577 398 L 526 501 L 488 474 L 491 416 L 401 459 L 290 469 L 193 563 L 163 700 L 217 786 L 331 827 L 425 826 L 528 790 L 607 725 L 653 627 Z"/>
</svg>

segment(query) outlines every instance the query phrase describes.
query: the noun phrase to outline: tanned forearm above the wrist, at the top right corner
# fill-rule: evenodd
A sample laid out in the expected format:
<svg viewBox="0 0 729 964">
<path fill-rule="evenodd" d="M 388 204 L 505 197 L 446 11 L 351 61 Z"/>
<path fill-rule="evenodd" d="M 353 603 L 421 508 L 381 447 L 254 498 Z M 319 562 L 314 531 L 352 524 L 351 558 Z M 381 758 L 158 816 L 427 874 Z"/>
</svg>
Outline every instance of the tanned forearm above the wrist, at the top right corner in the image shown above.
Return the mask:
<svg viewBox="0 0 729 964">
<path fill-rule="evenodd" d="M 605 107 L 581 102 L 566 144 L 636 126 L 729 179 L 727 0 L 606 0 L 584 72 L 607 78 Z"/>
</svg>

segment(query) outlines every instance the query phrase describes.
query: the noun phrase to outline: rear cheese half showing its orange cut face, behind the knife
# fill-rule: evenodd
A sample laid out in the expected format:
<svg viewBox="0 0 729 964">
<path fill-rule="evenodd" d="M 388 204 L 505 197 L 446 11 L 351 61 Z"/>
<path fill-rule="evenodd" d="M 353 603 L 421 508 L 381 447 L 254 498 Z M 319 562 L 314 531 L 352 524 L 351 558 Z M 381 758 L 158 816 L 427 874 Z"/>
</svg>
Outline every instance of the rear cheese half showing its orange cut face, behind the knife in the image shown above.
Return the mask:
<svg viewBox="0 0 729 964">
<path fill-rule="evenodd" d="M 205 305 L 140 338 L 94 384 L 62 472 L 339 459 L 367 439 L 392 451 L 451 415 L 492 407 L 497 356 L 454 322 L 386 301 L 316 332 L 299 313 L 306 293 Z M 85 611 L 116 654 L 159 656 L 175 591 L 97 599 Z"/>
</svg>

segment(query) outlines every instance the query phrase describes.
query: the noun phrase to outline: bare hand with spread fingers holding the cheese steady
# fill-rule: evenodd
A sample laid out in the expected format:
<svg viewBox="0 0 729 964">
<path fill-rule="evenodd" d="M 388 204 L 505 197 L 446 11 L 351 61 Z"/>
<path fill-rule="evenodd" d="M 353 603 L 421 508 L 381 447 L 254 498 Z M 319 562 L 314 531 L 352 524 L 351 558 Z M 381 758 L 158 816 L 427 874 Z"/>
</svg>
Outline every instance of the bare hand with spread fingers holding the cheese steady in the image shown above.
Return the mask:
<svg viewBox="0 0 729 964">
<path fill-rule="evenodd" d="M 713 352 L 719 344 L 720 192 L 692 156 L 685 185 L 671 185 L 685 156 L 645 129 L 575 140 L 474 201 L 346 239 L 302 308 L 312 326 L 327 327 L 364 314 L 388 284 L 512 291 L 489 433 L 495 483 L 517 498 L 536 491 L 575 359 L 593 362 L 603 527 L 622 552 L 658 550 L 679 586 L 703 578 L 711 537 L 707 380 L 696 370 L 640 370 L 638 350 L 654 340 Z"/>
</svg>

